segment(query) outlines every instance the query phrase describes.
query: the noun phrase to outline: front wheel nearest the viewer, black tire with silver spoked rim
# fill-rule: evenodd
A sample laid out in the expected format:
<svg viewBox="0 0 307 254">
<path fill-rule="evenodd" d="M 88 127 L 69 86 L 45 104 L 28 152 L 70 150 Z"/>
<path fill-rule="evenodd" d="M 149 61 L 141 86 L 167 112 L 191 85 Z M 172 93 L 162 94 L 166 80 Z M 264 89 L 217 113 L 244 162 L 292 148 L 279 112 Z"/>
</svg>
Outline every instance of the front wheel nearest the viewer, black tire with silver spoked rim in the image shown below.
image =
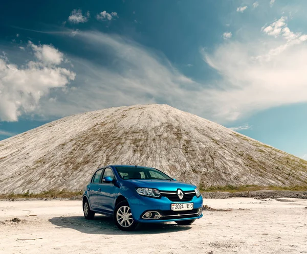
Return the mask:
<svg viewBox="0 0 307 254">
<path fill-rule="evenodd" d="M 114 223 L 120 230 L 132 231 L 138 223 L 133 219 L 130 206 L 127 201 L 121 201 L 114 210 Z"/>
</svg>

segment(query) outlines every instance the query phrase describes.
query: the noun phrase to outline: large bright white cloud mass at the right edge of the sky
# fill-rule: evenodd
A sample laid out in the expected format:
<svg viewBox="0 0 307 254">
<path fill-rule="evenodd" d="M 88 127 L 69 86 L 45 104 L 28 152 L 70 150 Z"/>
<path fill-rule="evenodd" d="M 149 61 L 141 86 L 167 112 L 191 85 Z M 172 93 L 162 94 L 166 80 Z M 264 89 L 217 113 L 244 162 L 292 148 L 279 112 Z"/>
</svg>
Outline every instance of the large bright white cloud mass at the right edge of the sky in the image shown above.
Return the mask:
<svg viewBox="0 0 307 254">
<path fill-rule="evenodd" d="M 208 91 L 215 119 L 233 121 L 270 107 L 307 102 L 307 36 L 290 31 L 286 20 L 263 29 L 272 37 L 230 41 L 211 54 L 202 51 L 222 77 L 219 89 Z"/>
</svg>

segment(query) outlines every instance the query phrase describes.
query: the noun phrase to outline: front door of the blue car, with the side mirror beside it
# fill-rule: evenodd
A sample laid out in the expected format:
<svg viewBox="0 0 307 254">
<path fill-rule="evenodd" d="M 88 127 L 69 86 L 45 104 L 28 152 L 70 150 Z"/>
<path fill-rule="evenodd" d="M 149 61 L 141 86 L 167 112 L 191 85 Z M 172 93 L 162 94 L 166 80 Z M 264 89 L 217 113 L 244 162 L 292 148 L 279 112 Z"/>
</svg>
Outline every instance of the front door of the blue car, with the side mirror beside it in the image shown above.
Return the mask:
<svg viewBox="0 0 307 254">
<path fill-rule="evenodd" d="M 103 182 L 103 178 L 106 176 L 111 176 L 112 179 L 115 178 L 114 173 L 111 168 L 105 168 L 103 176 L 101 177 L 101 182 L 99 184 L 98 196 L 97 196 L 97 207 L 98 211 L 113 213 L 114 211 L 114 193 L 117 187 L 114 186 L 114 183 Z"/>
</svg>

